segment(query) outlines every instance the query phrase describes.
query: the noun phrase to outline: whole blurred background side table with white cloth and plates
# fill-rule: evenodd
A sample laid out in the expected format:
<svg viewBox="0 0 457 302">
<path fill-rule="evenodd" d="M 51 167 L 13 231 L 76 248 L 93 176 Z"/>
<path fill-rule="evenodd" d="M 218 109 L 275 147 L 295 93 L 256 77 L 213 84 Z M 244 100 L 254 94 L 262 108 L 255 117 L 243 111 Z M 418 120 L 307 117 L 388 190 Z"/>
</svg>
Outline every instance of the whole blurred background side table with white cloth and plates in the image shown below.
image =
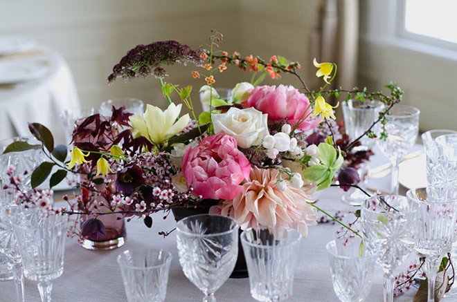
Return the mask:
<svg viewBox="0 0 457 302">
<path fill-rule="evenodd" d="M 30 136 L 28 122 L 39 122 L 65 143 L 59 114 L 80 105 L 69 66 L 51 48 L 30 44 L 12 51 L 9 40 L 0 37 L 0 140 Z"/>
</svg>

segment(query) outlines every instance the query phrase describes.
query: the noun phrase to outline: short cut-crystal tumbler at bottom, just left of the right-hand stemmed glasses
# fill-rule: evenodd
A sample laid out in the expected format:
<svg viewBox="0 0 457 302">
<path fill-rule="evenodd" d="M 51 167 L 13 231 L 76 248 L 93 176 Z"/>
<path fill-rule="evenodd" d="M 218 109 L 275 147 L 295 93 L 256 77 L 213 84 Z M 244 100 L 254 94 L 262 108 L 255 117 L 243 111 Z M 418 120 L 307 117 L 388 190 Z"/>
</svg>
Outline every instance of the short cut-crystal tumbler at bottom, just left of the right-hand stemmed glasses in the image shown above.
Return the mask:
<svg viewBox="0 0 457 302">
<path fill-rule="evenodd" d="M 360 240 L 327 243 L 333 289 L 341 302 L 361 302 L 370 294 L 376 255 L 359 253 Z"/>
</svg>

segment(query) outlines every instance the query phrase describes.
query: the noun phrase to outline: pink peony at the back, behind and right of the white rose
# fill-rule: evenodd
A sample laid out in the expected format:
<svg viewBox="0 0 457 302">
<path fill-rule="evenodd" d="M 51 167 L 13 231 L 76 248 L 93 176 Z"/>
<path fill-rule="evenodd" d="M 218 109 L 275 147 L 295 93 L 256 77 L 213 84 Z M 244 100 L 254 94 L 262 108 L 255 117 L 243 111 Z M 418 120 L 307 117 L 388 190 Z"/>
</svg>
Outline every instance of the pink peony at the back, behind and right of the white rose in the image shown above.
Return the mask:
<svg viewBox="0 0 457 302">
<path fill-rule="evenodd" d="M 268 120 L 286 119 L 289 124 L 296 124 L 298 119 L 310 115 L 310 100 L 293 86 L 257 86 L 251 91 L 249 99 L 243 103 L 246 107 L 254 107 L 268 114 Z M 307 131 L 314 129 L 319 120 L 309 116 L 301 122 L 298 129 Z"/>
</svg>

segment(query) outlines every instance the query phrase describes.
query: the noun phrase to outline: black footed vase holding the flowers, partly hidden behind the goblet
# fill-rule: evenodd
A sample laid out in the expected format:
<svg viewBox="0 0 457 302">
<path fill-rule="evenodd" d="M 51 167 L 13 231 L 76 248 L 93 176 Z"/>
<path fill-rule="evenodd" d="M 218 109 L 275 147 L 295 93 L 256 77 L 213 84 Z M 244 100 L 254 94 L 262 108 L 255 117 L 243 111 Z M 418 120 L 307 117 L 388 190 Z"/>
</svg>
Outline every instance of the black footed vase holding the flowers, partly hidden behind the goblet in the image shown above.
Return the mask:
<svg viewBox="0 0 457 302">
<path fill-rule="evenodd" d="M 199 207 L 197 209 L 193 208 L 186 208 L 186 207 L 176 207 L 172 208 L 172 213 L 174 215 L 174 220 L 179 221 L 182 218 L 186 218 L 188 216 L 198 215 L 198 214 L 208 214 L 209 208 L 215 205 L 215 200 L 210 200 L 205 202 L 203 207 Z M 246 265 L 246 259 L 244 258 L 243 247 L 241 245 L 240 234 L 242 230 L 238 231 L 238 258 L 235 263 L 235 268 L 233 269 L 230 278 L 233 279 L 241 279 L 249 277 Z"/>
</svg>

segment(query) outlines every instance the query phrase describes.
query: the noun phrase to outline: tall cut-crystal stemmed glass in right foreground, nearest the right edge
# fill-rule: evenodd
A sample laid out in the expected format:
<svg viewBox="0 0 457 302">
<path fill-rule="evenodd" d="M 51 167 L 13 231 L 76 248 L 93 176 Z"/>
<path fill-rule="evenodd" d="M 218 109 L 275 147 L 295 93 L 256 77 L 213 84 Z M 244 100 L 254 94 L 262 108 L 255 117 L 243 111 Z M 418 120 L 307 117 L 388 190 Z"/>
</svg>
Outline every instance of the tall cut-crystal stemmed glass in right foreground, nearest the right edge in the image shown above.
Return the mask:
<svg viewBox="0 0 457 302">
<path fill-rule="evenodd" d="M 447 252 L 456 227 L 457 190 L 449 187 L 411 189 L 406 197 L 418 207 L 415 249 L 425 256 L 427 301 L 435 301 L 435 281 L 441 256 Z"/>
</svg>

